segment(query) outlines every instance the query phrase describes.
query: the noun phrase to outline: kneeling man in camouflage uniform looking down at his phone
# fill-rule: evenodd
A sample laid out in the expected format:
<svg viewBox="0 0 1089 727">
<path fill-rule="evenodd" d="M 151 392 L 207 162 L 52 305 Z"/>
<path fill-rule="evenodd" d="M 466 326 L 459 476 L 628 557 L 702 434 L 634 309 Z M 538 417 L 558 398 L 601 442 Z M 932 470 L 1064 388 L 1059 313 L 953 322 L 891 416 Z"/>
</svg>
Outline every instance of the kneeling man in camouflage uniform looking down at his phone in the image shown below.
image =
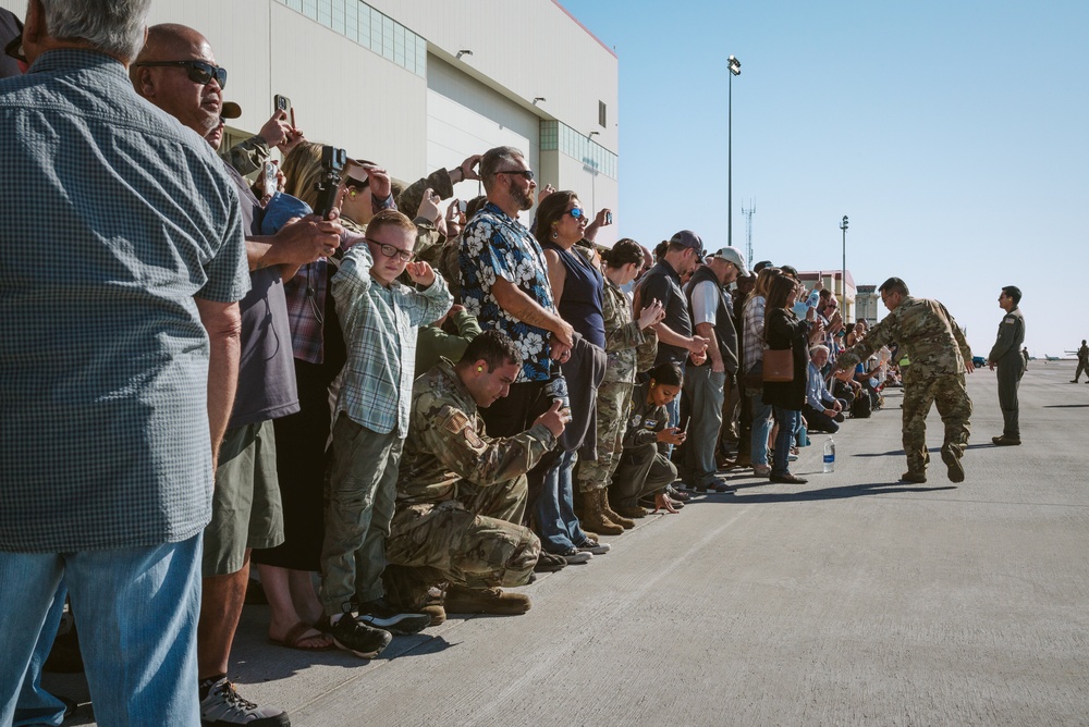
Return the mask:
<svg viewBox="0 0 1089 727">
<path fill-rule="evenodd" d="M 478 414 L 506 396 L 522 356 L 504 333 L 486 331 L 457 364 L 441 359 L 416 380 L 397 478 L 396 513 L 386 543 L 389 597 L 451 613 L 522 614 L 529 597 L 499 587 L 531 580 L 540 540 L 521 525 L 526 472 L 556 445 L 566 412 L 556 403 L 525 432 L 492 439 Z M 444 609 L 428 591 L 448 583 Z"/>
</svg>

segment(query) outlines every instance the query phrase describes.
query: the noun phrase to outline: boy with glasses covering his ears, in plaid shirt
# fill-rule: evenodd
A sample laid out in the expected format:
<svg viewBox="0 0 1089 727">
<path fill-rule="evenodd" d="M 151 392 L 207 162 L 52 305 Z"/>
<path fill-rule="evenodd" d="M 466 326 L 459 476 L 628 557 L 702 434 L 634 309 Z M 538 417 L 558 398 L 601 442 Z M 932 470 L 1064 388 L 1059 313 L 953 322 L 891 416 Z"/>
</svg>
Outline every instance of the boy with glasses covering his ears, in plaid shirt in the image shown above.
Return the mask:
<svg viewBox="0 0 1089 727">
<path fill-rule="evenodd" d="M 347 362 L 334 411 L 321 602 L 334 643 L 364 658 L 389 644 L 389 632 L 416 633 L 431 623 L 391 606 L 381 579 L 408 433 L 416 329 L 453 303 L 431 266 L 411 262 L 415 242 L 412 220 L 382 210 L 367 225 L 366 242 L 345 252 L 331 283 Z M 406 270 L 420 289 L 396 282 Z"/>
</svg>

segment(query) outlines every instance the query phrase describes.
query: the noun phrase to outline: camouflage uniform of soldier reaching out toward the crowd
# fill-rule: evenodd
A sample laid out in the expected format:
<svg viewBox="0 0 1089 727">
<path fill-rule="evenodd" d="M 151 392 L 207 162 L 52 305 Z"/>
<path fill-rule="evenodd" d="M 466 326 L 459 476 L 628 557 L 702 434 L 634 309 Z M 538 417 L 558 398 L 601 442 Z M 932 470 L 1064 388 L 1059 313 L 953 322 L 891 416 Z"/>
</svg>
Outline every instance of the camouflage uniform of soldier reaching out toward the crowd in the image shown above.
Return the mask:
<svg viewBox="0 0 1089 727">
<path fill-rule="evenodd" d="M 861 342 L 840 355 L 837 369 L 854 368 L 881 346 L 900 344 L 911 359 L 904 371 L 904 453 L 907 469 L 923 475 L 927 453 L 927 414 L 931 403 L 945 424 L 942 447 L 959 458 L 968 444 L 971 399 L 964 385 L 965 361 L 971 350 L 964 332 L 937 300 L 905 296 L 895 310 L 874 325 Z"/>
</svg>

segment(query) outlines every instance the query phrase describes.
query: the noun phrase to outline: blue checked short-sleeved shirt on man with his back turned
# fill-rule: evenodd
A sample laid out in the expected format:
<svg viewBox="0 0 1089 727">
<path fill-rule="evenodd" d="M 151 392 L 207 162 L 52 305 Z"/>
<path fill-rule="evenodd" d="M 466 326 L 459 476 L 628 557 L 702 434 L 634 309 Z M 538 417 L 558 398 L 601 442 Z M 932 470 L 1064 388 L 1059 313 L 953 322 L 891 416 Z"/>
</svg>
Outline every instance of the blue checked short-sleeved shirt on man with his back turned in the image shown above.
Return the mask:
<svg viewBox="0 0 1089 727">
<path fill-rule="evenodd" d="M 192 538 L 212 489 L 194 296 L 249 287 L 233 183 L 84 50 L 0 82 L 0 550 Z"/>
</svg>

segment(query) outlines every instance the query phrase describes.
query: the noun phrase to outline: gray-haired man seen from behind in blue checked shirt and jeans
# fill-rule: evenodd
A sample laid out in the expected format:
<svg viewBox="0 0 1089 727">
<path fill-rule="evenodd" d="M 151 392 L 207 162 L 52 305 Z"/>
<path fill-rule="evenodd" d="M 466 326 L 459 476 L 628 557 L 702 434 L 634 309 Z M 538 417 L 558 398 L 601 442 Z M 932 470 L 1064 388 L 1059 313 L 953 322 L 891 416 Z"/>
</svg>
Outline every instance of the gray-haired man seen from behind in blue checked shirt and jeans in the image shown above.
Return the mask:
<svg viewBox="0 0 1089 727">
<path fill-rule="evenodd" d="M 29 72 L 0 82 L 0 724 L 62 579 L 98 722 L 200 718 L 200 538 L 249 281 L 222 162 L 125 75 L 149 4 L 29 0 Z"/>
</svg>

